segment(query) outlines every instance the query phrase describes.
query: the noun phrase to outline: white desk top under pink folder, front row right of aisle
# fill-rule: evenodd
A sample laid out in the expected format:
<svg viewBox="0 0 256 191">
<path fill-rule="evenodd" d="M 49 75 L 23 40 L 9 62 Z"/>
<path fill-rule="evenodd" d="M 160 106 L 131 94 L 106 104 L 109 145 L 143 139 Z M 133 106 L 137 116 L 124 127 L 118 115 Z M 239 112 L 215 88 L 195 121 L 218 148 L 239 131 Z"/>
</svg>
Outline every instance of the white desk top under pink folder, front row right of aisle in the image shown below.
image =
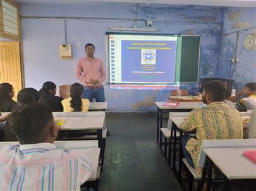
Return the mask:
<svg viewBox="0 0 256 191">
<path fill-rule="evenodd" d="M 162 110 L 195 109 L 206 106 L 203 102 L 180 102 L 177 107 L 167 107 L 164 103 L 166 102 L 155 102 L 155 105 Z"/>
</svg>

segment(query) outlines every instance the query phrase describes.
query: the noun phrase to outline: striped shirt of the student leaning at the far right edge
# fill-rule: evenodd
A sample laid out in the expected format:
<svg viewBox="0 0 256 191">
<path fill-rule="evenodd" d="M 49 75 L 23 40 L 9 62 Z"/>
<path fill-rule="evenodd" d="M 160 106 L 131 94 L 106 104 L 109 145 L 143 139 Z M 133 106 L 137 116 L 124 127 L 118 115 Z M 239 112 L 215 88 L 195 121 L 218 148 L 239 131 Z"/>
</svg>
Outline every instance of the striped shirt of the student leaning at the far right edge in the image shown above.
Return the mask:
<svg viewBox="0 0 256 191">
<path fill-rule="evenodd" d="M 256 106 L 256 95 L 250 95 L 247 98 L 241 98 L 241 100 L 236 101 L 236 108 L 240 112 L 246 112 L 247 110 L 252 110 Z"/>
</svg>

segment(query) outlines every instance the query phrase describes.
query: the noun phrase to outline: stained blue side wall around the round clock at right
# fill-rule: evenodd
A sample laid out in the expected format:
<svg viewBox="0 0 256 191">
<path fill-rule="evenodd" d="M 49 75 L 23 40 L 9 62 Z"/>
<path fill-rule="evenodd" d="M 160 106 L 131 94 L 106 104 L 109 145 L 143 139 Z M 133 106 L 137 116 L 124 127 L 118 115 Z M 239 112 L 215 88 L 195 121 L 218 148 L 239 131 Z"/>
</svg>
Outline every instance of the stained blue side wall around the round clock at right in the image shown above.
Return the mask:
<svg viewBox="0 0 256 191">
<path fill-rule="evenodd" d="M 223 11 L 222 62 L 219 76 L 229 78 L 229 59 L 235 57 L 237 31 L 239 32 L 236 57 L 239 59 L 234 74 L 235 88 L 240 90 L 248 82 L 256 82 L 256 48 L 245 50 L 243 41 L 249 33 L 256 35 L 256 8 L 228 8 Z M 235 33 L 233 33 L 235 32 Z M 232 67 L 234 69 L 234 67 Z"/>
</svg>

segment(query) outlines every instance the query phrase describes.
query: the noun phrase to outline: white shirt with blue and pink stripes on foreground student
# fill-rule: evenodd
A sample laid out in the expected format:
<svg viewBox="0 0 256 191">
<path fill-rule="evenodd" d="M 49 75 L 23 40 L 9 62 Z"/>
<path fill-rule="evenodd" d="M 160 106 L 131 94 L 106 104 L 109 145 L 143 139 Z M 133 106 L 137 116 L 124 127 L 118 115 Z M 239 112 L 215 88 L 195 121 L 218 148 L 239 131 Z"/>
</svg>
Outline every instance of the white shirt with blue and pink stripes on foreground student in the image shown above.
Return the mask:
<svg viewBox="0 0 256 191">
<path fill-rule="evenodd" d="M 92 174 L 82 153 L 48 142 L 5 146 L 0 162 L 0 190 L 80 190 Z"/>
</svg>

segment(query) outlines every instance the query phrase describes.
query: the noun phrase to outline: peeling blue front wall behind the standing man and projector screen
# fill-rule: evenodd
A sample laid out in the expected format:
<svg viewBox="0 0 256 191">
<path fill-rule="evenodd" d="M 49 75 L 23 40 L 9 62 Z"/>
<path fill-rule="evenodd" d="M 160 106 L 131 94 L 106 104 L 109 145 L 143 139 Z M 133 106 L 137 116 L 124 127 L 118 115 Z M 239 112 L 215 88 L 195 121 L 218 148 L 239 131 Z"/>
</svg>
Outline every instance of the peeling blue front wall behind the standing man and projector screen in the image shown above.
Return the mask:
<svg viewBox="0 0 256 191">
<path fill-rule="evenodd" d="M 107 18 L 142 18 L 153 20 L 157 33 L 201 35 L 200 77 L 215 77 L 221 55 L 222 8 L 204 6 L 166 6 L 128 3 L 86 5 L 21 4 L 22 16 L 86 16 Z M 138 28 L 145 27 L 138 21 Z M 59 61 L 58 45 L 64 43 L 64 20 L 21 17 L 25 86 L 40 89 L 44 81 L 75 83 L 76 64 L 85 56 L 84 45 L 95 44 L 95 56 L 106 64 L 105 33 L 111 27 L 133 27 L 133 21 L 66 20 L 66 42 L 73 47 L 72 61 Z M 105 66 L 106 67 L 106 66 Z M 105 86 L 110 112 L 155 111 L 154 101 L 166 101 L 169 91 L 113 90 Z M 193 93 L 197 83 L 181 84 Z"/>
</svg>

